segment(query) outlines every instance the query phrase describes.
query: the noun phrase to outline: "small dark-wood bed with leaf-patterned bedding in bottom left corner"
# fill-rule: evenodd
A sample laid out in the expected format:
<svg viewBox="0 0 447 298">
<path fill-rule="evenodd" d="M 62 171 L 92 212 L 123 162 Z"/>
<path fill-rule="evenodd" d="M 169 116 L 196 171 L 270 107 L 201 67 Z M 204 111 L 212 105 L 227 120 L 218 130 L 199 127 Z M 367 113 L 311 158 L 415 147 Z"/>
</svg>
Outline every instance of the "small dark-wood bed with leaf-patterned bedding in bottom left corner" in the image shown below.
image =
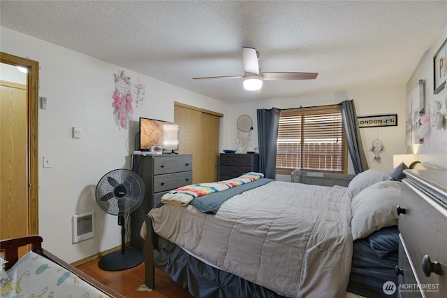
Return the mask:
<svg viewBox="0 0 447 298">
<path fill-rule="evenodd" d="M 8 274 L 1 280 L 1 297 L 124 298 L 42 248 L 42 241 L 37 235 L 0 241 Z"/>
</svg>

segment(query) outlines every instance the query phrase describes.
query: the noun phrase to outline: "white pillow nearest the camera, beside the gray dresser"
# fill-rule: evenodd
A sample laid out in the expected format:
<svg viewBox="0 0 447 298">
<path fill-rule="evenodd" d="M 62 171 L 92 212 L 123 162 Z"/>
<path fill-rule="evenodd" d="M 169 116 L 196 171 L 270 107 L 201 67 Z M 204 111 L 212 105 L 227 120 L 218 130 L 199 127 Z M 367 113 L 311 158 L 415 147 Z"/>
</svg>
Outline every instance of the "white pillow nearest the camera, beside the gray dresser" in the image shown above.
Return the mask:
<svg viewBox="0 0 447 298">
<path fill-rule="evenodd" d="M 400 188 L 399 181 L 381 181 L 352 199 L 353 240 L 365 238 L 382 227 L 397 225 L 396 206 L 400 200 Z"/>
</svg>

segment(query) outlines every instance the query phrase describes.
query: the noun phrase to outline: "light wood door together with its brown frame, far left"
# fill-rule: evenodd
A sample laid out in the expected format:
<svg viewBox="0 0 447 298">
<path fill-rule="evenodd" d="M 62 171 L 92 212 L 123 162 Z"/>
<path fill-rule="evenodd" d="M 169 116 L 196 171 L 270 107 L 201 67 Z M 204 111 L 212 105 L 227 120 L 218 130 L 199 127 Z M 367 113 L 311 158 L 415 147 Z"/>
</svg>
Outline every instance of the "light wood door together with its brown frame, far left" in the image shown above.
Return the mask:
<svg viewBox="0 0 447 298">
<path fill-rule="evenodd" d="M 0 81 L 0 239 L 38 234 L 38 62 L 0 53 L 28 69 L 27 84 Z"/>
</svg>

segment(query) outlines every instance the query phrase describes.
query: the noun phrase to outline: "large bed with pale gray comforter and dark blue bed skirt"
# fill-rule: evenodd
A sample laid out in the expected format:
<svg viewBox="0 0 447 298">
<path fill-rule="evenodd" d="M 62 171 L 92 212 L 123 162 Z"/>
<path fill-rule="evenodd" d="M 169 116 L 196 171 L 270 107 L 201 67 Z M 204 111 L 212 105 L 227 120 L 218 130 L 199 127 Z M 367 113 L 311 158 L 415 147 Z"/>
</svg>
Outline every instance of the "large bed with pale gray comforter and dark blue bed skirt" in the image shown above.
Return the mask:
<svg viewBox="0 0 447 298">
<path fill-rule="evenodd" d="M 186 204 L 165 200 L 141 228 L 146 285 L 155 288 L 156 266 L 194 297 L 397 297 L 382 287 L 397 286 L 403 169 L 371 169 L 347 187 L 261 177 Z"/>
</svg>

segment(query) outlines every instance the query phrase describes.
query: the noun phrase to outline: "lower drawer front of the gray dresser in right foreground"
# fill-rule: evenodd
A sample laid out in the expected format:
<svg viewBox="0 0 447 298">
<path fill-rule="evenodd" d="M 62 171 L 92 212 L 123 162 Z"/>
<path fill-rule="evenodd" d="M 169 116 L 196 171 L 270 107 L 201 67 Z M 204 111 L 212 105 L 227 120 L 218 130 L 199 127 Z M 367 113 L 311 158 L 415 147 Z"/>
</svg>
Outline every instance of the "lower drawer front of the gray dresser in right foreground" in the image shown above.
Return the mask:
<svg viewBox="0 0 447 298">
<path fill-rule="evenodd" d="M 400 288 L 402 288 L 400 289 L 399 297 L 420 298 L 422 295 L 419 290 L 415 288 L 417 287 L 418 282 L 411 269 L 411 260 L 409 259 L 409 256 L 406 255 L 403 241 L 402 235 L 399 235 L 399 269 L 402 270 L 401 274 L 397 277 Z"/>
</svg>

